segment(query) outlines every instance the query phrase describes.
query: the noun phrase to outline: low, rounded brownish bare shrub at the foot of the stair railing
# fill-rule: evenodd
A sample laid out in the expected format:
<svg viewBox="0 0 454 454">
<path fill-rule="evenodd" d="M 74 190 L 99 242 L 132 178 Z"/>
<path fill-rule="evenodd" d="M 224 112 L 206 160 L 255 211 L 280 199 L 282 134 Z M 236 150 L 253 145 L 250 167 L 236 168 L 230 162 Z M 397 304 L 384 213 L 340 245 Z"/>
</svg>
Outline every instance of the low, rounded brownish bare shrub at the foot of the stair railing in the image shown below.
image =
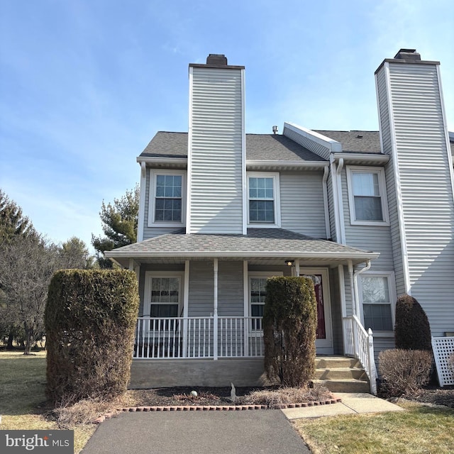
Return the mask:
<svg viewBox="0 0 454 454">
<path fill-rule="evenodd" d="M 428 383 L 432 355 L 427 350 L 383 350 L 378 355 L 381 391 L 392 397 L 417 395 Z"/>
</svg>

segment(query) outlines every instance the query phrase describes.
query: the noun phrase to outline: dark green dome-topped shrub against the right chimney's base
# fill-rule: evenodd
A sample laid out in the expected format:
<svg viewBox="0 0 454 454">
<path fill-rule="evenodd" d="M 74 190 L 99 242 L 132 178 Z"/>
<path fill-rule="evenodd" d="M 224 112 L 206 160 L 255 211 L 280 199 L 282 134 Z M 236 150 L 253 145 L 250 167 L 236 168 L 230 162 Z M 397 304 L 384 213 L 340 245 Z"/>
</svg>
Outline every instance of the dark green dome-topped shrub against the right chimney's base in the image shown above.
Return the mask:
<svg viewBox="0 0 454 454">
<path fill-rule="evenodd" d="M 432 351 L 431 326 L 421 304 L 409 295 L 402 295 L 396 303 L 394 326 L 396 348 Z"/>
</svg>

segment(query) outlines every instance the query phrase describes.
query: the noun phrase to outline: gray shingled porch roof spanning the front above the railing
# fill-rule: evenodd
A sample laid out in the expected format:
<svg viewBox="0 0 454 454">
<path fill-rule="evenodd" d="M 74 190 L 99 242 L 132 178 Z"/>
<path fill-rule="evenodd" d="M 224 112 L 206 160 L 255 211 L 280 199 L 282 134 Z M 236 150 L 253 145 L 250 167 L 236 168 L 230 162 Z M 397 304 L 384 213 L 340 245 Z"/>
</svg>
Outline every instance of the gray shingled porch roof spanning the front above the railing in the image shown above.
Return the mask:
<svg viewBox="0 0 454 454">
<path fill-rule="evenodd" d="M 106 257 L 128 266 L 160 260 L 311 260 L 325 264 L 353 260 L 354 264 L 380 254 L 351 248 L 329 240 L 312 238 L 282 228 L 248 228 L 247 235 L 184 233 L 184 229 L 156 236 L 140 243 L 105 253 Z"/>
</svg>

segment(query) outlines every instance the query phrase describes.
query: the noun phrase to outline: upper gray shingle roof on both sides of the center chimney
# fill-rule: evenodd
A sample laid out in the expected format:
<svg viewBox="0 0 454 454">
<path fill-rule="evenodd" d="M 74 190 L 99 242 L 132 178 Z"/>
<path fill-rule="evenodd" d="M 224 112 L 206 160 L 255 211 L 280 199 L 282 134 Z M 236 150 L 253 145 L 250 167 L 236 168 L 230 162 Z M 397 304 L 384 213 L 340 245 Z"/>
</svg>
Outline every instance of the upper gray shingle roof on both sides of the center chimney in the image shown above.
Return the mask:
<svg viewBox="0 0 454 454">
<path fill-rule="evenodd" d="M 159 131 L 141 157 L 187 157 L 187 133 Z M 284 135 L 246 134 L 246 157 L 250 160 L 323 161 Z"/>
</svg>

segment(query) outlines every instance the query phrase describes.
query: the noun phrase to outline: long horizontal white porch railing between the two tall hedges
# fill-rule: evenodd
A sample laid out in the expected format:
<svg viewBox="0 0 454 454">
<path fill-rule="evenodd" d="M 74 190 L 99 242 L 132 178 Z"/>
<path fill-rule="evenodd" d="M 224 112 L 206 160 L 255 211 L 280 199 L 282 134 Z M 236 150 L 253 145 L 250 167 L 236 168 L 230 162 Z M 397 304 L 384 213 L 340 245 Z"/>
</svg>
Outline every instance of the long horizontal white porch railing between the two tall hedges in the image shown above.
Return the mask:
<svg viewBox="0 0 454 454">
<path fill-rule="evenodd" d="M 215 333 L 217 331 L 217 336 Z M 261 317 L 139 317 L 133 358 L 258 358 L 265 353 Z"/>
</svg>

